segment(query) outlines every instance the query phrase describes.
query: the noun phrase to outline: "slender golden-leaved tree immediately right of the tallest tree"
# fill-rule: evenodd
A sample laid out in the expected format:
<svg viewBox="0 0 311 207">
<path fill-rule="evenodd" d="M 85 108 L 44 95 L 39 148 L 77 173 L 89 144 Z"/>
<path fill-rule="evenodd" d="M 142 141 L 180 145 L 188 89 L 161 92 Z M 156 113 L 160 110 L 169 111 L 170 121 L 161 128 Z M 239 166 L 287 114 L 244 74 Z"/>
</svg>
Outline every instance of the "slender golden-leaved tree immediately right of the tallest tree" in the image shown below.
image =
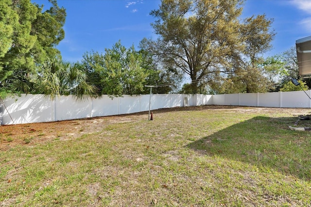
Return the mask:
<svg viewBox="0 0 311 207">
<path fill-rule="evenodd" d="M 244 50 L 240 58 L 235 60 L 234 80 L 240 80 L 246 93 L 267 92 L 274 88 L 272 73 L 278 73 L 271 68 L 274 59 L 264 60 L 262 54 L 271 49 L 271 41 L 275 35 L 270 31 L 272 19 L 265 15 L 248 17 L 240 26 Z M 268 64 L 269 63 L 269 64 Z M 264 67 L 265 66 L 265 67 Z"/>
</svg>

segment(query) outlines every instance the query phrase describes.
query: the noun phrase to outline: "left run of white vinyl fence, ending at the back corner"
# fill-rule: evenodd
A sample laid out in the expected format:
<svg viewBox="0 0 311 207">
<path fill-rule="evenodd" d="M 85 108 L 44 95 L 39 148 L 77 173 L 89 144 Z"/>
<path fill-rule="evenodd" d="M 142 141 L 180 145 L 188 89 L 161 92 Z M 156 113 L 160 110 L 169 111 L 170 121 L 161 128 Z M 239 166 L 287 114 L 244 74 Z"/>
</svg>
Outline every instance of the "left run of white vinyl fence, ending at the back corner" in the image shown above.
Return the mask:
<svg viewBox="0 0 311 207">
<path fill-rule="evenodd" d="M 74 96 L 61 96 L 50 100 L 44 95 L 22 94 L 10 97 L 0 105 L 0 124 L 20 124 L 73 120 L 91 117 L 103 117 L 130 114 L 159 108 L 183 107 L 212 104 L 211 95 L 152 94 L 123 95 L 109 98 L 77 101 Z M 2 112 L 2 113 L 1 113 Z"/>
</svg>

